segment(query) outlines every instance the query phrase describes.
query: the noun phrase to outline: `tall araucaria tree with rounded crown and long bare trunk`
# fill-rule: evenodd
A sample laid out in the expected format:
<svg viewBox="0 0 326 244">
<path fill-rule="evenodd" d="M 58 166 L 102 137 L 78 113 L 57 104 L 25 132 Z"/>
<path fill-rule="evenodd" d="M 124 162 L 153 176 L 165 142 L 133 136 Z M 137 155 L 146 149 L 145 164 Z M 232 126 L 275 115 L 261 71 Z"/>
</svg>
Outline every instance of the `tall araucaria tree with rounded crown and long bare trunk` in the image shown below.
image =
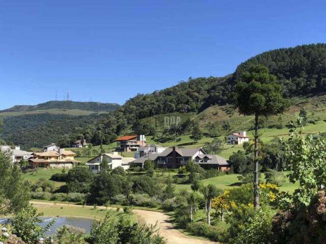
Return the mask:
<svg viewBox="0 0 326 244">
<path fill-rule="evenodd" d="M 276 76 L 269 74 L 267 67 L 255 65 L 243 72 L 234 87 L 234 105 L 239 113 L 255 116 L 254 154 L 254 207 L 259 207 L 258 191 L 258 120 L 259 117 L 276 115 L 284 111 L 286 102 L 282 97 L 282 86 Z"/>
</svg>

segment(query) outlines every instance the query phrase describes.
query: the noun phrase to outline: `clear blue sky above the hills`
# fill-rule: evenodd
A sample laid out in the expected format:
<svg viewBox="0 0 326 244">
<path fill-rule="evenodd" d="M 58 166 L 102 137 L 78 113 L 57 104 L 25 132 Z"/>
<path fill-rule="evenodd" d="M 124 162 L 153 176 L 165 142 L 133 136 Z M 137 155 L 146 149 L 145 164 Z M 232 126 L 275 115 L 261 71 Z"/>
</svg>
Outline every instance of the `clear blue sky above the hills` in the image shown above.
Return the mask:
<svg viewBox="0 0 326 244">
<path fill-rule="evenodd" d="M 268 3 L 267 3 L 268 2 Z M 123 104 L 263 51 L 326 42 L 325 1 L 0 0 L 0 109 Z"/>
</svg>

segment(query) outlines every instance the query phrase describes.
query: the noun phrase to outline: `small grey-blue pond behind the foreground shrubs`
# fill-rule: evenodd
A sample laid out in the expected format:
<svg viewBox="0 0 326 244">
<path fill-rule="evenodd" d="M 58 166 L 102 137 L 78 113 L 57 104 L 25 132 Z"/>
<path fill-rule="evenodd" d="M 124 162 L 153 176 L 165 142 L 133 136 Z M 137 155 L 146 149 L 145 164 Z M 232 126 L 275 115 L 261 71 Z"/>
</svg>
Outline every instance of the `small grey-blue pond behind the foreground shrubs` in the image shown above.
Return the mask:
<svg viewBox="0 0 326 244">
<path fill-rule="evenodd" d="M 56 234 L 57 228 L 64 225 L 82 228 L 86 231 L 85 233 L 88 234 L 91 231 L 91 224 L 93 223 L 93 219 L 81 217 L 42 217 L 40 219 L 43 221 L 40 223 L 40 226 L 42 227 L 45 227 L 53 219 L 56 221 L 46 232 L 47 236 Z M 5 223 L 6 221 L 8 221 L 8 219 L 0 219 L 0 224 Z"/>
</svg>

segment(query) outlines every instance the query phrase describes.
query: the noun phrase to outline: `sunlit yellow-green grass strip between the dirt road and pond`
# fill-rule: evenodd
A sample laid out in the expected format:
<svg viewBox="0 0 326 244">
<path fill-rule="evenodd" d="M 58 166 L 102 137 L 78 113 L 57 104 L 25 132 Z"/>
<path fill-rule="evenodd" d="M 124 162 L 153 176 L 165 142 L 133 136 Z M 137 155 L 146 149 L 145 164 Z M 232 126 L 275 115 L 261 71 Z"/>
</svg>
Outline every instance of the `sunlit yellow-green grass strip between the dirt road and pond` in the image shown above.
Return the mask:
<svg viewBox="0 0 326 244">
<path fill-rule="evenodd" d="M 38 212 L 43 212 L 44 216 L 77 216 L 77 217 L 90 217 L 90 218 L 102 218 L 106 215 L 107 212 L 116 218 L 123 217 L 130 219 L 132 223 L 137 223 L 137 216 L 135 215 L 126 215 L 122 211 L 114 211 L 111 209 L 94 209 L 90 206 L 61 206 L 61 205 L 51 205 L 51 206 L 38 206 L 36 205 Z"/>
</svg>

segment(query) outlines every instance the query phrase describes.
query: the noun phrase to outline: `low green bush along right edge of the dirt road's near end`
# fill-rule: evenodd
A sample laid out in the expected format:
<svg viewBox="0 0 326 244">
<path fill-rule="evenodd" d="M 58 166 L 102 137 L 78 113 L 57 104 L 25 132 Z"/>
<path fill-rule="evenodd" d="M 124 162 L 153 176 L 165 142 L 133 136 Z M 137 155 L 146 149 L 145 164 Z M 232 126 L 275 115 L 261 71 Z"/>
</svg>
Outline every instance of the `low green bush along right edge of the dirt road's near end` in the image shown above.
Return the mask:
<svg viewBox="0 0 326 244">
<path fill-rule="evenodd" d="M 187 224 L 187 231 L 197 236 L 205 236 L 212 241 L 224 242 L 224 230 L 210 226 L 205 222 L 192 222 Z"/>
</svg>

